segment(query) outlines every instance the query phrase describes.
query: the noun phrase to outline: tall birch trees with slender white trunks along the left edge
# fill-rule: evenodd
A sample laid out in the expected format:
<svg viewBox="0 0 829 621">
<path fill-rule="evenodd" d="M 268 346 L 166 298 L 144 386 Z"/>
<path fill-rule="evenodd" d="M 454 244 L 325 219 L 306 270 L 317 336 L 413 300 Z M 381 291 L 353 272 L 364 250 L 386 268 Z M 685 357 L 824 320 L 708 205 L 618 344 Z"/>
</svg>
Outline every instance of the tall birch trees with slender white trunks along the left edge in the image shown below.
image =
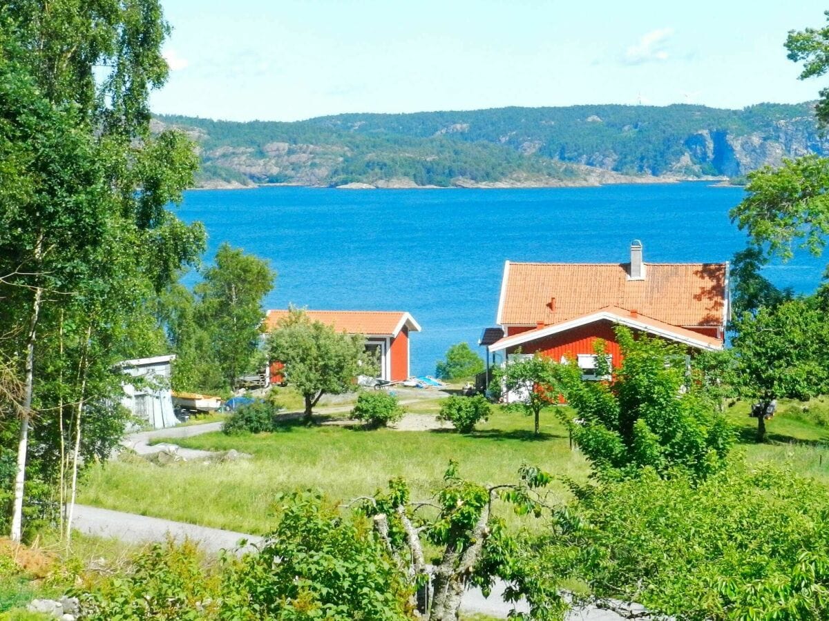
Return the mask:
<svg viewBox="0 0 829 621">
<path fill-rule="evenodd" d="M 80 451 L 96 445 L 80 433 L 86 406 L 117 394 L 112 374 L 104 377 L 109 367 L 151 338 L 128 324 L 143 315 L 148 294 L 203 247 L 201 226 L 186 226 L 166 209 L 191 181 L 191 142 L 177 132 L 149 132 L 148 92 L 167 76 L 166 34 L 153 0 L 0 7 L 0 288 L 7 310 L 0 331 L 15 335 L 0 346 L 24 353 L 16 358 L 25 387 L 16 540 L 30 440 L 36 460 L 65 455 L 70 445 L 75 480 Z M 101 66 L 109 75 L 96 79 Z M 69 367 L 75 372 L 65 373 Z M 50 388 L 61 385 L 61 373 L 70 392 Z M 60 424 L 69 399 L 76 405 L 71 438 Z M 60 414 L 40 418 L 30 438 L 35 411 Z M 52 422 L 58 432 L 48 429 Z M 89 431 L 104 429 L 113 427 Z M 60 446 L 51 443 L 58 439 Z"/>
</svg>

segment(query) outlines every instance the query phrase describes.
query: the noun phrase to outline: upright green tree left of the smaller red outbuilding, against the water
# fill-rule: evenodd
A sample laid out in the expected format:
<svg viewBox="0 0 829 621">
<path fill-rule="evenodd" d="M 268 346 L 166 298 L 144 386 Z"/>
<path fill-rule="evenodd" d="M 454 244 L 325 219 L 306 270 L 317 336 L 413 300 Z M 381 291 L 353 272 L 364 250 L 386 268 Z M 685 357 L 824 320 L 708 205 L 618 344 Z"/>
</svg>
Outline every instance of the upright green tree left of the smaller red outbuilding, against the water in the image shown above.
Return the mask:
<svg viewBox="0 0 829 621">
<path fill-rule="evenodd" d="M 268 262 L 223 243 L 216 264 L 202 276 L 194 287 L 196 325 L 205 327 L 211 359 L 221 368 L 225 383 L 235 387 L 239 376 L 250 371 L 259 350 L 262 301 L 273 289 L 276 275 Z"/>
</svg>

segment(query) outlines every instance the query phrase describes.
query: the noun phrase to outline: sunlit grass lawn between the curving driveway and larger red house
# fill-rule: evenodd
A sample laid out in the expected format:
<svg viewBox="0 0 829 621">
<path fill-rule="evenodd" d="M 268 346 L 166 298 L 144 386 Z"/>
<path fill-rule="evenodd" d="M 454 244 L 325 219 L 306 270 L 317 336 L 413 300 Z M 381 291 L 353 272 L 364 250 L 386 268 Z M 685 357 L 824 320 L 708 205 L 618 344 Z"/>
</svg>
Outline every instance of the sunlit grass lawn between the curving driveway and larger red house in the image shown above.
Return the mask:
<svg viewBox="0 0 829 621">
<path fill-rule="evenodd" d="M 206 450 L 233 448 L 254 458 L 163 468 L 143 460 L 110 462 L 90 470 L 80 502 L 261 533 L 272 523 L 274 493 L 313 488 L 333 499 L 348 499 L 371 494 L 402 475 L 413 496 L 425 498 L 439 486 L 449 460 L 460 463 L 463 476 L 481 483 L 515 480 L 523 463 L 577 479 L 587 475 L 584 458 L 570 450 L 555 412 L 542 415 L 540 438 L 532 435 L 531 418 L 500 410 L 481 427 L 471 436 L 301 425 L 259 436 L 211 433 L 174 441 Z M 562 498 L 564 487 L 554 486 L 552 493 Z"/>
</svg>

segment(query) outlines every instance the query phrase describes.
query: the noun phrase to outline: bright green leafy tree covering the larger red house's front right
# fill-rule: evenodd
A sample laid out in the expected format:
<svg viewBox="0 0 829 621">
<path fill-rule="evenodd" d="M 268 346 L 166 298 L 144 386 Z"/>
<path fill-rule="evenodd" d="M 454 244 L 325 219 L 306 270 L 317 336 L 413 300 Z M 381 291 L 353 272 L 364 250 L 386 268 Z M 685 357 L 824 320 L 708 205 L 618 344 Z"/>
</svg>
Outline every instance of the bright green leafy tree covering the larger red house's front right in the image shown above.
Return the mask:
<svg viewBox="0 0 829 621">
<path fill-rule="evenodd" d="M 733 431 L 704 387 L 688 381 L 684 349 L 616 327 L 623 363 L 608 382 L 574 381 L 565 389 L 579 421 L 573 438 L 599 477 L 650 466 L 687 469 L 705 478 L 725 464 Z M 563 365 L 574 367 L 573 364 Z"/>
</svg>

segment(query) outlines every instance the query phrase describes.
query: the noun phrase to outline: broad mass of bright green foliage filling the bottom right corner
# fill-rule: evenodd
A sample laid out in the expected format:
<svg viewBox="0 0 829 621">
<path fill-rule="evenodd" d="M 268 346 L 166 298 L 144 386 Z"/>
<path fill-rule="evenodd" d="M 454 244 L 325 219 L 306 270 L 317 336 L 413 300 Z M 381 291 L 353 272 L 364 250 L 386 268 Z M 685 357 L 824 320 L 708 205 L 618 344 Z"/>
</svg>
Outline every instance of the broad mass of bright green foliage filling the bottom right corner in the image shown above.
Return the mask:
<svg viewBox="0 0 829 621">
<path fill-rule="evenodd" d="M 788 469 L 732 464 L 574 487 L 539 550 L 536 579 L 675 619 L 825 619 L 829 492 Z"/>
</svg>

